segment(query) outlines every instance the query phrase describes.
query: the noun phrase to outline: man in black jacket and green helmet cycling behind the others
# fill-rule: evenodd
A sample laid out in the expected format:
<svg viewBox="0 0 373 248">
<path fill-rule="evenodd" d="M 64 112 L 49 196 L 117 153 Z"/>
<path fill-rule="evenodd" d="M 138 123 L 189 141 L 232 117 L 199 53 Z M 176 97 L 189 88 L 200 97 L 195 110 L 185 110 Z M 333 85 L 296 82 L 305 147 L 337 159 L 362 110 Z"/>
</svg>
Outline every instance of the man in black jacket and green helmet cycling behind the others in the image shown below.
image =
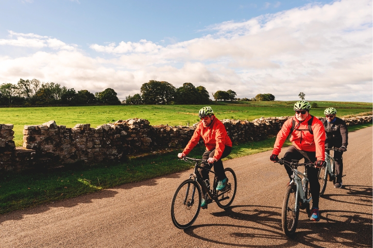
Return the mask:
<svg viewBox="0 0 373 248">
<path fill-rule="evenodd" d="M 336 117 L 337 110 L 334 108 L 327 108 L 324 111 L 325 118 L 322 119 L 322 124 L 325 128 L 326 140 L 325 147 L 339 148 L 339 151 L 334 152 L 334 160 L 336 166 L 336 184 L 335 188 L 342 187 L 342 173 L 343 173 L 343 152 L 347 151 L 348 144 L 348 130 L 346 123 Z"/>
</svg>

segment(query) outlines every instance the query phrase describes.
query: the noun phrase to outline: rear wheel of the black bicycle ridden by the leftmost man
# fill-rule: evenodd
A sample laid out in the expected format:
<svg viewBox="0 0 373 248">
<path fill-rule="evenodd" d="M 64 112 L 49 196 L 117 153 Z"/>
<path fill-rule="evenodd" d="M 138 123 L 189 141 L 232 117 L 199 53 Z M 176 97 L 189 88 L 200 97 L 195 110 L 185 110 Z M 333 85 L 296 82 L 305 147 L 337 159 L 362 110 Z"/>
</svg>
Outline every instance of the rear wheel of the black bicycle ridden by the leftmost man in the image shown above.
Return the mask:
<svg viewBox="0 0 373 248">
<path fill-rule="evenodd" d="M 237 191 L 237 177 L 235 171 L 233 171 L 231 168 L 225 168 L 224 172 L 225 176 L 228 178 L 228 182 L 223 191 L 217 192 L 217 194 L 220 196 L 215 201 L 216 204 L 223 209 L 232 204 Z"/>
</svg>

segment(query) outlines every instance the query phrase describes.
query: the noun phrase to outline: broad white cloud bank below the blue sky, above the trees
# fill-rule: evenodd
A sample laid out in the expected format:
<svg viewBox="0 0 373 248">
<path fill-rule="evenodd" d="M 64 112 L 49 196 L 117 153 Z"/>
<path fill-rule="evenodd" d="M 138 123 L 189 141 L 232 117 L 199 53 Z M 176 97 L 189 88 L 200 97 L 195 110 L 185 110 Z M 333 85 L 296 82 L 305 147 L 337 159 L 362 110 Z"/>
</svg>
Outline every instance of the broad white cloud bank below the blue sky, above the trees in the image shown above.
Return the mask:
<svg viewBox="0 0 373 248">
<path fill-rule="evenodd" d="M 91 92 L 110 87 L 122 100 L 154 79 L 210 93 L 231 89 L 237 97 L 296 100 L 304 92 L 308 100 L 372 101 L 371 0 L 309 4 L 204 31 L 210 34 L 168 46 L 140 40 L 86 50 L 9 31 L 0 46 L 24 50 L 0 54 L 0 83 L 37 78 Z"/>
</svg>

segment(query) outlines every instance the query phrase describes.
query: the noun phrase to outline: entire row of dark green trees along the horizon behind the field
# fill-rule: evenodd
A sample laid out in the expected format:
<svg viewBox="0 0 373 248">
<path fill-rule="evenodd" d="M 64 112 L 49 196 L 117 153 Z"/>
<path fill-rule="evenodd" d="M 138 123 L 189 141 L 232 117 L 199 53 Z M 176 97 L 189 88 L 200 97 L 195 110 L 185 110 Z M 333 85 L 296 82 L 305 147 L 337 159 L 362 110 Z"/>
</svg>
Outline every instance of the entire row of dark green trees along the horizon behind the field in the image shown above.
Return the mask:
<svg viewBox="0 0 373 248">
<path fill-rule="evenodd" d="M 236 98 L 232 90 L 211 93 L 215 101 L 273 101 L 272 94 L 257 94 L 254 98 Z M 0 85 L 0 105 L 86 105 L 86 104 L 207 104 L 211 101 L 209 93 L 203 86 L 195 87 L 184 83 L 175 88 L 166 81 L 150 80 L 142 84 L 140 93 L 126 96 L 120 102 L 117 93 L 107 88 L 102 92 L 90 93 L 87 90 L 76 92 L 58 83 L 40 82 L 40 80 L 19 79 L 17 84 Z"/>
</svg>

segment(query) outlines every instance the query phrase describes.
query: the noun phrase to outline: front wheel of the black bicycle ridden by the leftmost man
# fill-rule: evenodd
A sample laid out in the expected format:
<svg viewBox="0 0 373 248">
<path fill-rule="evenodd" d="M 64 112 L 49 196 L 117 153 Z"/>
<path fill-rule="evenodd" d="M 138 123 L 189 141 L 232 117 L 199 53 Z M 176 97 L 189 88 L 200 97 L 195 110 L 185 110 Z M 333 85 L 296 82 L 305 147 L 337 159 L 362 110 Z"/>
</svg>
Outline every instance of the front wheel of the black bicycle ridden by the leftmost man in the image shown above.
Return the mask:
<svg viewBox="0 0 373 248">
<path fill-rule="evenodd" d="M 197 190 L 192 198 L 193 189 Z M 192 179 L 185 180 L 177 187 L 171 201 L 171 219 L 175 227 L 186 229 L 194 223 L 201 210 L 201 195 L 200 186 Z"/>
</svg>

